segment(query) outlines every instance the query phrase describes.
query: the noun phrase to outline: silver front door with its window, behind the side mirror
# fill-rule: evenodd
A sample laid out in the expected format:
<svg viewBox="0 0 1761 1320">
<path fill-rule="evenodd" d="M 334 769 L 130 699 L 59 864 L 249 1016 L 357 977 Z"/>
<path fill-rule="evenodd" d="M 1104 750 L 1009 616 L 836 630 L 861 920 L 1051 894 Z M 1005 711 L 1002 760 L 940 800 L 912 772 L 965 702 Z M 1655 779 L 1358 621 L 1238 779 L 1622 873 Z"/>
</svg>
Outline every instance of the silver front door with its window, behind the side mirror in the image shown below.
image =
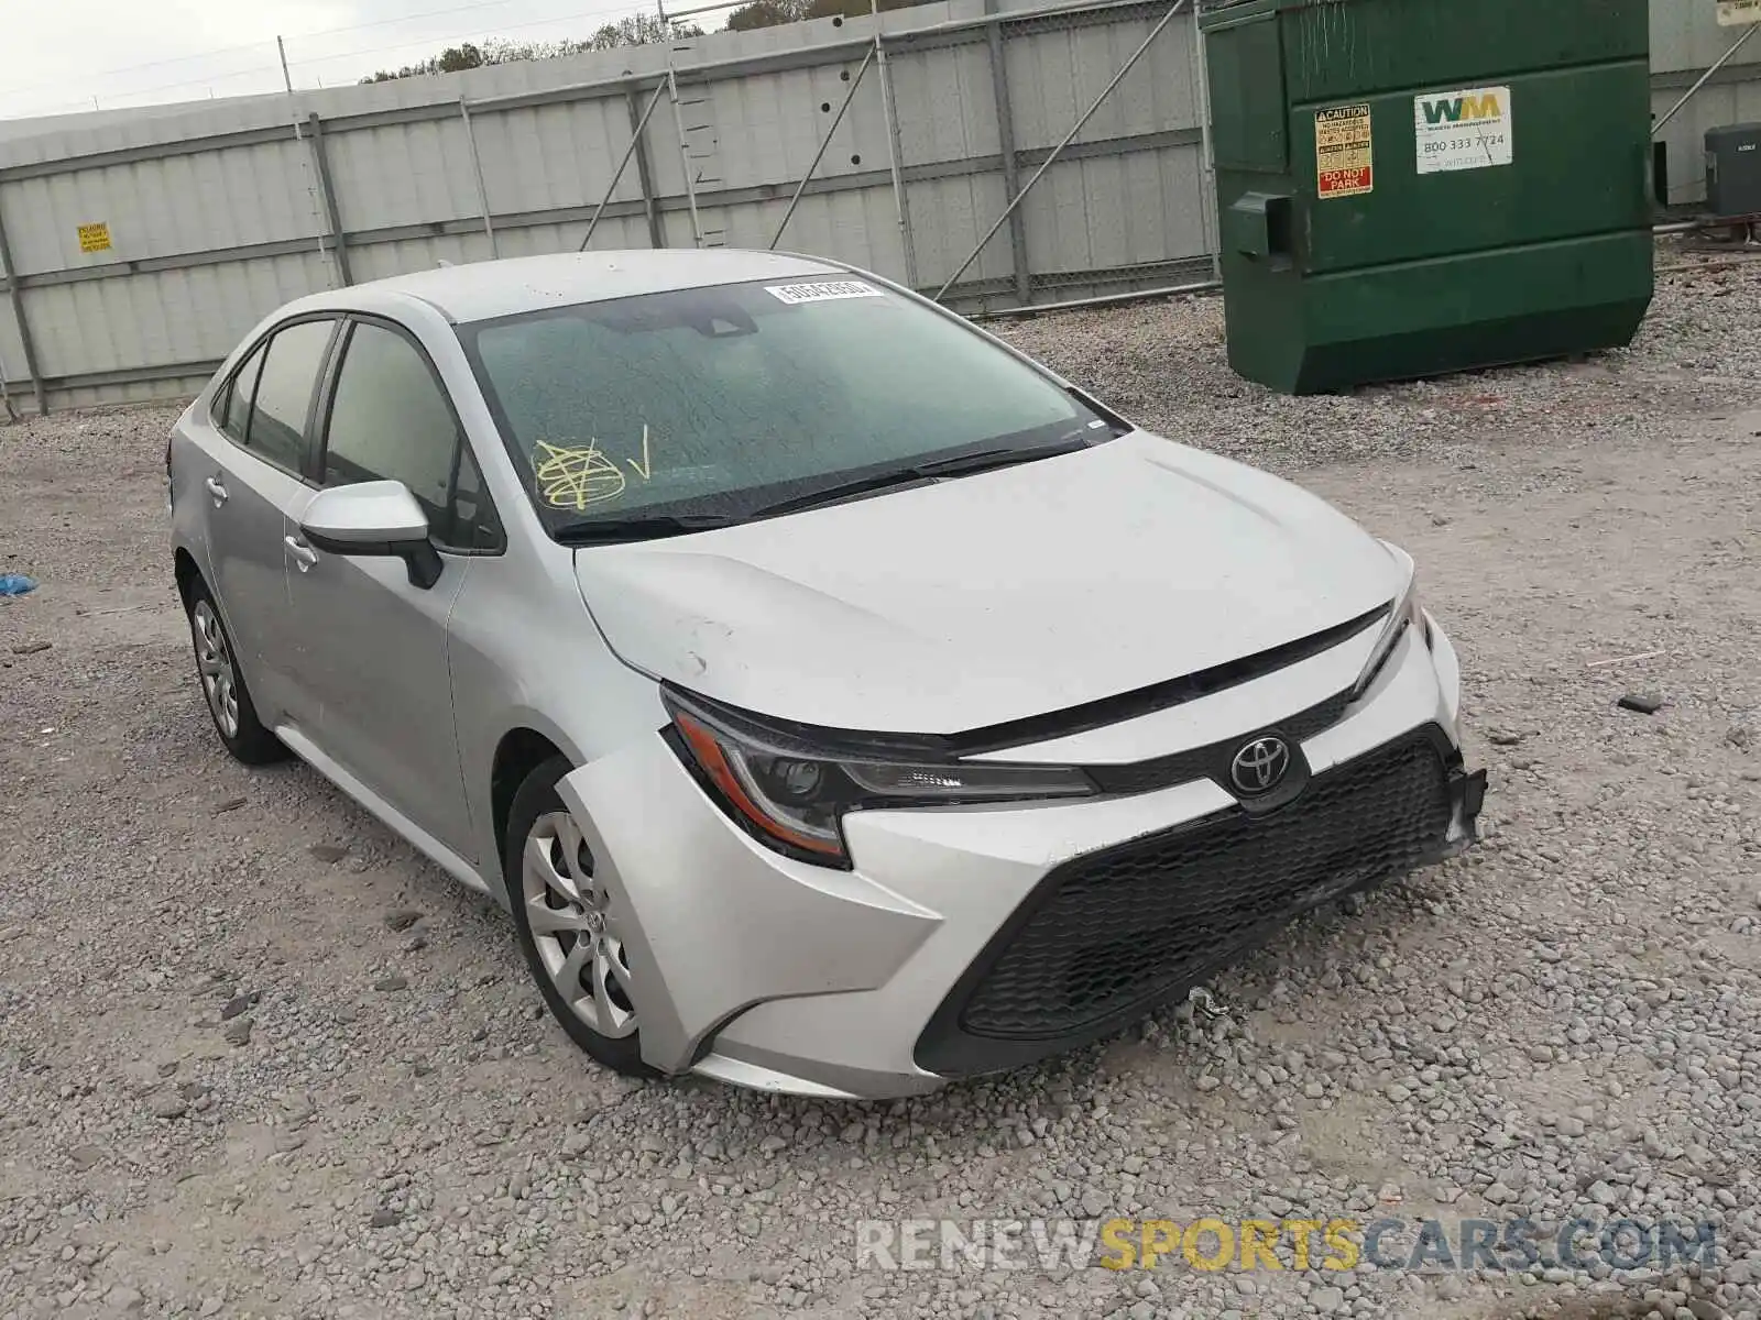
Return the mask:
<svg viewBox="0 0 1761 1320">
<path fill-rule="evenodd" d="M 421 829 L 474 859 L 447 620 L 472 556 L 502 546 L 495 510 L 438 373 L 396 324 L 350 322 L 321 414 L 322 486 L 402 480 L 428 514 L 442 568 L 421 588 L 398 558 L 310 547 L 296 558 L 298 681 L 322 708 L 319 743 Z"/>
</svg>

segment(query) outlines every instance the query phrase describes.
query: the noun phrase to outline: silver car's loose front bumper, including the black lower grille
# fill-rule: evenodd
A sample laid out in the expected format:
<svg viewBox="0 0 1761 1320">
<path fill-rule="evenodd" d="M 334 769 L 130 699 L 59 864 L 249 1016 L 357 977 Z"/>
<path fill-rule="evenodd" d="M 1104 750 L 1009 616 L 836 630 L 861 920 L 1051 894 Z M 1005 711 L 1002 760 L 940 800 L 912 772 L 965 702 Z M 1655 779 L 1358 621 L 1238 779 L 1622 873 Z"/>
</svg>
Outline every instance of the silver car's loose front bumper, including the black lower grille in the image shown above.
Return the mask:
<svg viewBox="0 0 1761 1320">
<path fill-rule="evenodd" d="M 1428 623 L 1300 741 L 1308 785 L 1257 818 L 1212 778 L 856 811 L 854 869 L 838 871 L 734 827 L 659 734 L 583 766 L 558 790 L 623 912 L 645 1061 L 831 1098 L 932 1091 L 1118 1030 L 1300 912 L 1460 852 L 1485 774 L 1462 766 L 1456 656 Z M 1009 757 L 1245 739 L 1349 686 L 1356 664 L 1340 648 Z"/>
</svg>

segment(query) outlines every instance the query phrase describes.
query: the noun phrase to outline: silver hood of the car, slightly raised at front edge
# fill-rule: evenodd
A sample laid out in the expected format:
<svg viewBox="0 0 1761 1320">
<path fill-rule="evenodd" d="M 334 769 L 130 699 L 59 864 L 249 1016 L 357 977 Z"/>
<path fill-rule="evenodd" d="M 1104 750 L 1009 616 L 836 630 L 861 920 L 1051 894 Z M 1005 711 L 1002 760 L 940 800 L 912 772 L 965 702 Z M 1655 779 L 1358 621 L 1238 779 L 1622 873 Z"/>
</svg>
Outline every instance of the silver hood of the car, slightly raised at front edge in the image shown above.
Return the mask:
<svg viewBox="0 0 1761 1320">
<path fill-rule="evenodd" d="M 689 537 L 576 551 L 611 648 L 831 729 L 951 734 L 1270 649 L 1404 570 L 1307 491 L 1141 431 Z"/>
</svg>

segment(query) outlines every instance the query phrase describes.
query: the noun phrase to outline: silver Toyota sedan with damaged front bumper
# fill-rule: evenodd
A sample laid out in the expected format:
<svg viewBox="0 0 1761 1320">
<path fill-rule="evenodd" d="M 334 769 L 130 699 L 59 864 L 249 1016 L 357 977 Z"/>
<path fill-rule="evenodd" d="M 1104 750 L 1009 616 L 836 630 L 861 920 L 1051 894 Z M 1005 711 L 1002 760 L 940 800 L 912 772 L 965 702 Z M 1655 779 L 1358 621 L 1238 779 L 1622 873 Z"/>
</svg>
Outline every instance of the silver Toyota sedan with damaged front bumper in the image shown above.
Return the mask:
<svg viewBox="0 0 1761 1320">
<path fill-rule="evenodd" d="M 167 479 L 225 748 L 507 906 L 618 1072 L 928 1091 L 1474 840 L 1400 549 L 826 260 L 305 297 Z"/>
</svg>

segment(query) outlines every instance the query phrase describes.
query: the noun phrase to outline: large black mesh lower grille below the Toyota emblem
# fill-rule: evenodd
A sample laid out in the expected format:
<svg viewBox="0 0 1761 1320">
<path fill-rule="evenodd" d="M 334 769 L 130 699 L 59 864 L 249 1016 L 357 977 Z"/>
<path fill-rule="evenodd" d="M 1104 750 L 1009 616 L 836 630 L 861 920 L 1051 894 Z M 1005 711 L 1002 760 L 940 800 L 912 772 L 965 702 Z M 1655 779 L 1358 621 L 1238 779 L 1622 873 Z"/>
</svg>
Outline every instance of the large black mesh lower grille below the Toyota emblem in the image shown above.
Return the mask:
<svg viewBox="0 0 1761 1320">
<path fill-rule="evenodd" d="M 1065 862 L 972 987 L 977 1037 L 1078 1033 L 1189 986 L 1303 908 L 1418 866 L 1449 825 L 1430 732 L 1227 813 Z M 1030 901 L 1032 903 L 1032 901 Z"/>
</svg>

